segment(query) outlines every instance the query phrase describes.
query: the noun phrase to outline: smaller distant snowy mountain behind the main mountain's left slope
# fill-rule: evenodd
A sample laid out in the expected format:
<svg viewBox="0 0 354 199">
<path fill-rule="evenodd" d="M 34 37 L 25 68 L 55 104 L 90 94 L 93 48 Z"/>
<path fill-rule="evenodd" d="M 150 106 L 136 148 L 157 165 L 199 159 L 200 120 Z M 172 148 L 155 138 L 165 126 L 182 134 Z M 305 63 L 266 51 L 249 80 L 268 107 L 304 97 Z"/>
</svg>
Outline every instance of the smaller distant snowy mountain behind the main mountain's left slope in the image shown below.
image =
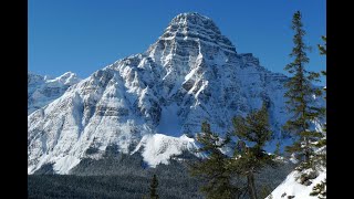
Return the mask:
<svg viewBox="0 0 354 199">
<path fill-rule="evenodd" d="M 39 74 L 28 73 L 28 115 L 48 105 L 81 78 L 72 72 L 51 78 Z"/>
</svg>

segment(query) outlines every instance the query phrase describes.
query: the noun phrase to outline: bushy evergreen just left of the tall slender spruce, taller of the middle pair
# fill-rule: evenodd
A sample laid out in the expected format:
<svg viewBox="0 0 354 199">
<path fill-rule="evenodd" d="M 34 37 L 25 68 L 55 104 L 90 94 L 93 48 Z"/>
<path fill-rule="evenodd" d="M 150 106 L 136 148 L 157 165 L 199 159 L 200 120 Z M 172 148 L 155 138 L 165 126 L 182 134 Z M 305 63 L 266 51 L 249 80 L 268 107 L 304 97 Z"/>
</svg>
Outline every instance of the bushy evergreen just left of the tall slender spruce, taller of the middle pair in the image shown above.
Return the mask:
<svg viewBox="0 0 354 199">
<path fill-rule="evenodd" d="M 235 150 L 232 169 L 247 177 L 248 192 L 251 199 L 258 199 L 254 186 L 254 174 L 266 166 L 275 166 L 274 156 L 263 149 L 271 139 L 267 105 L 263 103 L 259 111 L 251 112 L 246 117 L 233 118 L 235 135 L 239 138 Z M 249 143 L 252 146 L 246 146 Z"/>
</svg>

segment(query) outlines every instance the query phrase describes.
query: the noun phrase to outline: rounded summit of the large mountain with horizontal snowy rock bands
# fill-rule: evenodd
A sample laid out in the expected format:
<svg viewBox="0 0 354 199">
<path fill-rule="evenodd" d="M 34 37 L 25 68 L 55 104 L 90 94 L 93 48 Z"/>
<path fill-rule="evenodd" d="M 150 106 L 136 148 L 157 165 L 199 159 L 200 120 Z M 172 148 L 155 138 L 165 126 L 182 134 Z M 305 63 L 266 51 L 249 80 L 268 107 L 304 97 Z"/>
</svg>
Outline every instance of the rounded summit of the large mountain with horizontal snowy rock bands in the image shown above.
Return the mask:
<svg viewBox="0 0 354 199">
<path fill-rule="evenodd" d="M 237 54 L 231 41 L 221 34 L 215 22 L 196 12 L 180 13 L 175 17 L 162 36 L 147 50 L 156 63 L 169 64 L 178 59 L 214 60 L 233 59 Z"/>
</svg>

